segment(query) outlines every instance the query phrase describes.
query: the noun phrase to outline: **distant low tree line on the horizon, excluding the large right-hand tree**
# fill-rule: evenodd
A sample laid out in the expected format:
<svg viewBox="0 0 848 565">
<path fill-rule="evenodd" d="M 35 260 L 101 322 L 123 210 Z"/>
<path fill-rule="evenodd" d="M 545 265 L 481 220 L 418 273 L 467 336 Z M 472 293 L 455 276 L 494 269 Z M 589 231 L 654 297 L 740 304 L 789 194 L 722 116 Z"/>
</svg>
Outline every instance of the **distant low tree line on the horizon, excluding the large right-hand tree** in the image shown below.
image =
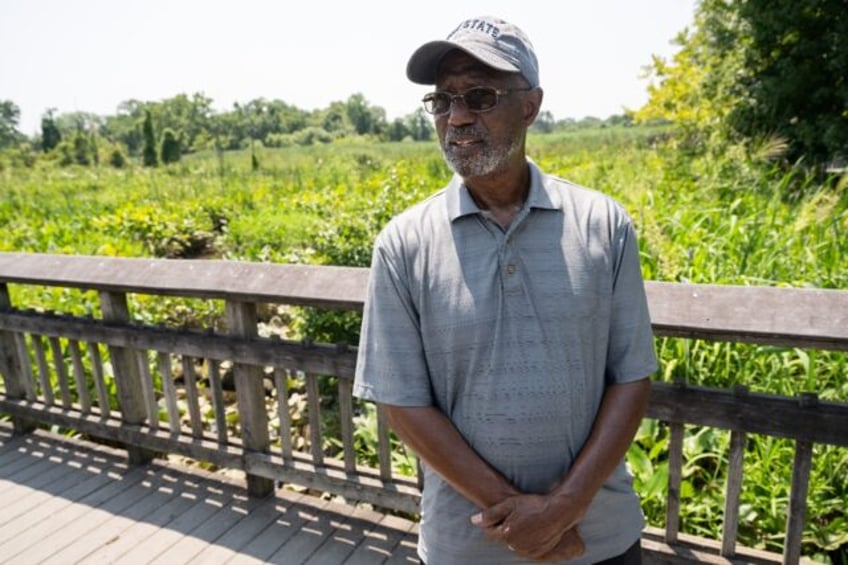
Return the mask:
<svg viewBox="0 0 848 565">
<path fill-rule="evenodd" d="M 203 150 L 229 151 L 258 146 L 288 147 L 331 143 L 353 136 L 375 141 L 429 141 L 435 136 L 431 117 L 423 109 L 394 120 L 360 93 L 327 108 L 306 111 L 282 100 L 256 98 L 216 112 L 202 93 L 178 94 L 159 101 L 127 100 L 113 115 L 90 112 L 57 114 L 48 109 L 38 134 L 29 138 L 18 131 L 20 109 L 0 101 L 0 149 L 16 151 L 16 161 L 31 164 L 38 154 L 61 165 L 98 164 L 120 167 L 128 158 L 145 166 L 171 163 L 181 155 Z M 543 112 L 536 131 L 577 129 L 630 123 L 626 116 L 606 120 L 586 117 L 557 121 Z"/>
</svg>

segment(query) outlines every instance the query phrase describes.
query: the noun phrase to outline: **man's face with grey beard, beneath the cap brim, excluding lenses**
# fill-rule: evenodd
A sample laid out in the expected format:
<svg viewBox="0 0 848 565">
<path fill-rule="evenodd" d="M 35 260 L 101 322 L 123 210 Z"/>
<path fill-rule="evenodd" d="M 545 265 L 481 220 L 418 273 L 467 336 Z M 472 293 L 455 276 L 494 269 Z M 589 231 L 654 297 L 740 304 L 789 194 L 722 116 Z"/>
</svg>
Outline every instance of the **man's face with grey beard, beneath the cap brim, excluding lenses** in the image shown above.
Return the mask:
<svg viewBox="0 0 848 565">
<path fill-rule="evenodd" d="M 470 88 L 524 88 L 526 83 L 513 73 L 487 67 L 461 51 L 445 56 L 439 67 L 436 90 L 461 94 Z M 526 124 L 522 96 L 510 92 L 499 96 L 487 112 L 475 113 L 455 99 L 451 109 L 435 117 L 436 131 L 448 165 L 463 178 L 502 172 L 523 152 Z M 523 161 L 523 154 L 521 155 Z"/>
</svg>

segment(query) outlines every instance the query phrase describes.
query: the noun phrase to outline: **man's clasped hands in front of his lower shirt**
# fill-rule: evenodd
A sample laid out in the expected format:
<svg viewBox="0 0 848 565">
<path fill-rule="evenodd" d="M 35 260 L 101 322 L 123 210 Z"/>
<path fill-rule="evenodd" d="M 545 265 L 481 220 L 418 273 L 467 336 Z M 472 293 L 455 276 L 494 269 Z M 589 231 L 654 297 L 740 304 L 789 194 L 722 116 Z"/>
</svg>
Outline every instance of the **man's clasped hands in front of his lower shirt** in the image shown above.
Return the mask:
<svg viewBox="0 0 848 565">
<path fill-rule="evenodd" d="M 524 557 L 563 560 L 585 549 L 576 530 L 583 512 L 551 495 L 521 494 L 475 514 L 471 522 L 482 527 L 489 539 L 506 543 Z"/>
</svg>

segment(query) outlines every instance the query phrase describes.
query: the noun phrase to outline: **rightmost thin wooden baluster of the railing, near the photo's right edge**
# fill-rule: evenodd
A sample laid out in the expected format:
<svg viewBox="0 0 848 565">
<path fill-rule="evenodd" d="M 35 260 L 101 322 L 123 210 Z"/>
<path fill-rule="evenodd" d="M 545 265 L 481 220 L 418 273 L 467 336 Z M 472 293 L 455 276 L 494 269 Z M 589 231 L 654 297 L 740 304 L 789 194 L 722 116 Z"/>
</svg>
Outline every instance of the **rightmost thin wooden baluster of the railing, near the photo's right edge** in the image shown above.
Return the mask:
<svg viewBox="0 0 848 565">
<path fill-rule="evenodd" d="M 818 397 L 814 393 L 803 393 L 798 399 L 803 408 L 814 408 Z M 789 509 L 786 515 L 786 541 L 783 544 L 783 562 L 798 563 L 801 558 L 801 537 L 804 531 L 804 514 L 807 509 L 807 490 L 810 485 L 810 469 L 813 465 L 813 444 L 809 441 L 795 442 L 795 462 L 792 465 L 792 490 L 789 494 Z"/>
</svg>

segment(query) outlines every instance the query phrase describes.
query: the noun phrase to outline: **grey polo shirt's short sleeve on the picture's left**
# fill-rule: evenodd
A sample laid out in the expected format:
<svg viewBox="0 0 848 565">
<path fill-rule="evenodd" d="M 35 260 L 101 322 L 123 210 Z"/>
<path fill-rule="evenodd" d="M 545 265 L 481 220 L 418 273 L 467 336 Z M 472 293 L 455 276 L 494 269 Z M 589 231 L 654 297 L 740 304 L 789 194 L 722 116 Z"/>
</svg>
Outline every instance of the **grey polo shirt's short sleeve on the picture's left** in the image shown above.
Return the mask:
<svg viewBox="0 0 848 565">
<path fill-rule="evenodd" d="M 397 406 L 433 403 L 421 326 L 399 238 L 377 238 L 360 333 L 353 393 Z"/>
</svg>

